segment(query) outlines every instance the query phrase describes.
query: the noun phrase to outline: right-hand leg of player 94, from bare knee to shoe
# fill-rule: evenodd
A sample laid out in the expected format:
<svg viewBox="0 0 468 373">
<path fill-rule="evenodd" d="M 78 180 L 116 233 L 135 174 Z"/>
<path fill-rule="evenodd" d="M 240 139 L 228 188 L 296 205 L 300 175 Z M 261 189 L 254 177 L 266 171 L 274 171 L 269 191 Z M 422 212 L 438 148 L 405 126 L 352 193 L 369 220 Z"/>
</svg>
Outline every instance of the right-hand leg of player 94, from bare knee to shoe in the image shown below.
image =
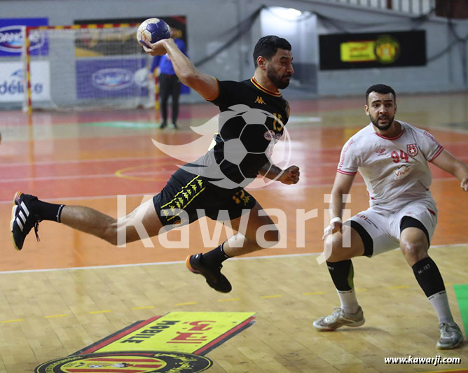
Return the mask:
<svg viewBox="0 0 468 373">
<path fill-rule="evenodd" d="M 429 242 L 425 232 L 417 227 L 407 227 L 402 230 L 400 248 L 406 262 L 413 269 L 419 286 L 439 318 L 441 337 L 436 347 L 438 349 L 455 349 L 463 341 L 462 331 L 453 320 L 439 268 L 427 253 Z"/>
</svg>

